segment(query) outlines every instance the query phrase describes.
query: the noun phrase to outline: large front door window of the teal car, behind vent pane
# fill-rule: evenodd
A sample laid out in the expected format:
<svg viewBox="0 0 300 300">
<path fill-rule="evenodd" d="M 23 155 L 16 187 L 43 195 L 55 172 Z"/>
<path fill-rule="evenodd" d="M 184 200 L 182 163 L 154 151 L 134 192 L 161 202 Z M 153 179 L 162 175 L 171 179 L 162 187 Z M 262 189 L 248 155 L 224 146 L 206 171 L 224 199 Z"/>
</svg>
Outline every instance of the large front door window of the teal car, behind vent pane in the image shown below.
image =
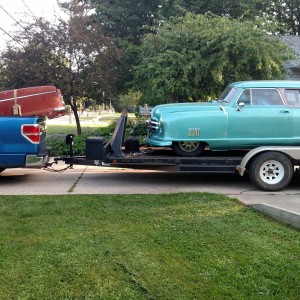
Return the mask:
<svg viewBox="0 0 300 300">
<path fill-rule="evenodd" d="M 252 105 L 284 105 L 276 89 L 252 89 Z"/>
</svg>

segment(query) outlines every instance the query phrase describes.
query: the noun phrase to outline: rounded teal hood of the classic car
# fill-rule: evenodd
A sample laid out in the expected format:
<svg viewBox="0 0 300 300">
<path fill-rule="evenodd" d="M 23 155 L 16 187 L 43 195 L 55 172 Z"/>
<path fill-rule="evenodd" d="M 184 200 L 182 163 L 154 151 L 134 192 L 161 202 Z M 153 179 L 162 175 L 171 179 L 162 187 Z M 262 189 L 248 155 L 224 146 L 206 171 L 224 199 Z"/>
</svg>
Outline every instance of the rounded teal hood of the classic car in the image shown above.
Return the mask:
<svg viewBox="0 0 300 300">
<path fill-rule="evenodd" d="M 194 103 L 172 103 L 155 106 L 152 109 L 151 117 L 159 120 L 160 116 L 174 113 L 212 111 L 220 110 L 220 105 L 227 106 L 227 103 L 213 102 L 194 102 Z"/>
</svg>

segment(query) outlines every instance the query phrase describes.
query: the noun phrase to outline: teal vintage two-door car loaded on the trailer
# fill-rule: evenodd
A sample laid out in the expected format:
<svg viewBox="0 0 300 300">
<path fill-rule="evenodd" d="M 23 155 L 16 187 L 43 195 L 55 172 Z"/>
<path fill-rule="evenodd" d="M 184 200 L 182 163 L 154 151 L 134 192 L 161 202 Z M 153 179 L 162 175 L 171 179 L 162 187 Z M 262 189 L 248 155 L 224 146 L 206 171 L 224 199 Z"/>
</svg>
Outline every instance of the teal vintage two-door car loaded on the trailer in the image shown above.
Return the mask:
<svg viewBox="0 0 300 300">
<path fill-rule="evenodd" d="M 179 156 L 300 145 L 300 81 L 234 82 L 214 101 L 158 105 L 148 125 L 146 143 Z"/>
</svg>

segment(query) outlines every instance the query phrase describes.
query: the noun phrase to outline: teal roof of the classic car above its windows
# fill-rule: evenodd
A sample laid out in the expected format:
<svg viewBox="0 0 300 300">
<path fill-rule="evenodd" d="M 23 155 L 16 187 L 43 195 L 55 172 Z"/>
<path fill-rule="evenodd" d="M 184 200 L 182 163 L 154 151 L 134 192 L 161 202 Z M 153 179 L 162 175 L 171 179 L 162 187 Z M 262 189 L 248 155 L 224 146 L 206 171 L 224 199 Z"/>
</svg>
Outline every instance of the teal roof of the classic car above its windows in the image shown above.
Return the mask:
<svg viewBox="0 0 300 300">
<path fill-rule="evenodd" d="M 229 85 L 239 88 L 300 88 L 299 80 L 253 80 L 238 81 Z"/>
</svg>

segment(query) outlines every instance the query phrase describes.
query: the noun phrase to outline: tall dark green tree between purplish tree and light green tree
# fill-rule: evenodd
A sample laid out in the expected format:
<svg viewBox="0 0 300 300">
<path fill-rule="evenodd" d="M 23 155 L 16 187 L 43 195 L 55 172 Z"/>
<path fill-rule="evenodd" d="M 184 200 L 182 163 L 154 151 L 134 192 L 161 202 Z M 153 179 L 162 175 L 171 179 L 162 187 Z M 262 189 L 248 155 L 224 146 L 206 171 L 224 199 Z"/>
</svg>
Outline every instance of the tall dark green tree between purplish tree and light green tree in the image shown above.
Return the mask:
<svg viewBox="0 0 300 300">
<path fill-rule="evenodd" d="M 157 9 L 162 0 L 91 0 L 96 9 L 94 19 L 103 32 L 112 37 L 120 49 L 120 89 L 127 93 L 132 68 L 139 63 L 139 45 L 144 34 L 157 22 Z"/>
</svg>

